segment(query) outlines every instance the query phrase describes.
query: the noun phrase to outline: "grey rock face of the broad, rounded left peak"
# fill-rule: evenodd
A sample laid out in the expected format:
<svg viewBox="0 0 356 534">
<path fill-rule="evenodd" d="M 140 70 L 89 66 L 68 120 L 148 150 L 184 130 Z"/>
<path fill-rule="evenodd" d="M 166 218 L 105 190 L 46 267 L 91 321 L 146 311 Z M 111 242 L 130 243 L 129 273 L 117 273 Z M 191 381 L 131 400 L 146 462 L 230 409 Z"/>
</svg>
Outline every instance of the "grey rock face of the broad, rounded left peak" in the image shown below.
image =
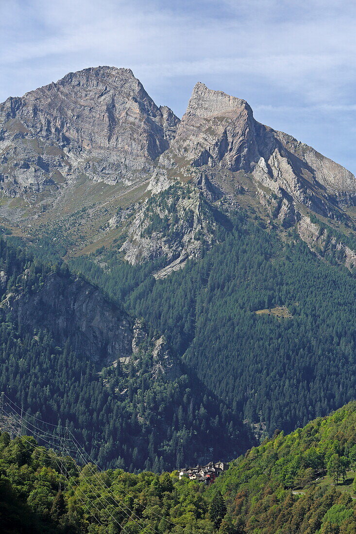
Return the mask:
<svg viewBox="0 0 356 534">
<path fill-rule="evenodd" d="M 178 123 L 129 69 L 69 73 L 0 105 L 0 186 L 13 196 L 78 176 L 129 183 L 152 171 Z"/>
</svg>

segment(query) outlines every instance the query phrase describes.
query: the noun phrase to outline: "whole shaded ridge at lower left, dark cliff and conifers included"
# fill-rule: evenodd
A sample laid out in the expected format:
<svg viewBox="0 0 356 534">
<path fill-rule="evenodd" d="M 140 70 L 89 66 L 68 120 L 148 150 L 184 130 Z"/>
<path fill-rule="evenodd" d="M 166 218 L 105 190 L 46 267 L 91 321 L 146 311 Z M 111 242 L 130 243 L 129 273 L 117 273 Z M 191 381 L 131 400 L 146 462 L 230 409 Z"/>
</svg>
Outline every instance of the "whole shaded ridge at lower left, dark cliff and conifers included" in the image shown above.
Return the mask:
<svg viewBox="0 0 356 534">
<path fill-rule="evenodd" d="M 159 472 L 249 446 L 248 427 L 165 338 L 100 289 L 3 240 L 0 266 L 0 391 L 71 428 L 101 467 Z"/>
</svg>

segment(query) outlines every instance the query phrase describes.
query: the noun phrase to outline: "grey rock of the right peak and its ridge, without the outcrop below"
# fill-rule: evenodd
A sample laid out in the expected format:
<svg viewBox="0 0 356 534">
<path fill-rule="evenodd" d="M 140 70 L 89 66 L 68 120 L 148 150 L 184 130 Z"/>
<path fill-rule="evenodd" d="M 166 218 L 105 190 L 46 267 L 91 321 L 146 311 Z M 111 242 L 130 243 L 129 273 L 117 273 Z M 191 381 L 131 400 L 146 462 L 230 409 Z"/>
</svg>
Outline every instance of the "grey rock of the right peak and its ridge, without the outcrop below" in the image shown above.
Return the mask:
<svg viewBox="0 0 356 534">
<path fill-rule="evenodd" d="M 202 83 L 196 84 L 160 166 L 162 189 L 164 168 L 167 179 L 174 175 L 172 169 L 191 176 L 199 169 L 207 177 L 213 175 L 218 184 L 225 171 L 250 174 L 258 190 L 263 186 L 265 201 L 266 188 L 280 199 L 279 217 L 286 225 L 296 221 L 293 212 L 298 204 L 337 217 L 337 206 L 356 201 L 356 179 L 350 171 L 286 133 L 257 122 L 244 100 Z"/>
</svg>

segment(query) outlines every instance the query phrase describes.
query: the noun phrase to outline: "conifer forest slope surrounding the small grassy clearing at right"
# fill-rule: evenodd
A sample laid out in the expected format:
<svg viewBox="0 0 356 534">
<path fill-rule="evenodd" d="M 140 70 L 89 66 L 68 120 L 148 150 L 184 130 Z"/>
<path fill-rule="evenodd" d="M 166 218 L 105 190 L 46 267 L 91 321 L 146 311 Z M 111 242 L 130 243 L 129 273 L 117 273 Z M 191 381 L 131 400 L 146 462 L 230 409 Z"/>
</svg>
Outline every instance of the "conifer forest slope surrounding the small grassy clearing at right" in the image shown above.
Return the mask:
<svg viewBox="0 0 356 534">
<path fill-rule="evenodd" d="M 353 399 L 354 275 L 318 258 L 293 230 L 281 235 L 243 213 L 219 238 L 163 280 L 152 276 L 154 263 L 130 266 L 117 250 L 76 258 L 71 268 L 163 333 L 199 378 L 265 435 Z M 292 318 L 256 314 L 275 305 Z"/>
</svg>

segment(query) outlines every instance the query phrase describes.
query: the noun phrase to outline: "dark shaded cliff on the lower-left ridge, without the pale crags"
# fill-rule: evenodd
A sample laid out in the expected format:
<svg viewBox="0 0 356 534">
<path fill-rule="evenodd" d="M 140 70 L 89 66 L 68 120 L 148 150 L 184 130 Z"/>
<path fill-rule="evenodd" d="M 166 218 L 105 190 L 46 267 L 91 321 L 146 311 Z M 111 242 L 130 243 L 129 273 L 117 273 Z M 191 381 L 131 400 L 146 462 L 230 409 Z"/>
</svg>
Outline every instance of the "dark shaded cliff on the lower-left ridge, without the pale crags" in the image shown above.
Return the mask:
<svg viewBox="0 0 356 534">
<path fill-rule="evenodd" d="M 58 343 L 69 340 L 95 361 L 109 364 L 131 355 L 133 331 L 127 313 L 80 278 L 68 283 L 68 278 L 50 274 L 37 293 L 11 295 L 6 305 L 19 324 L 48 329 Z"/>
</svg>

